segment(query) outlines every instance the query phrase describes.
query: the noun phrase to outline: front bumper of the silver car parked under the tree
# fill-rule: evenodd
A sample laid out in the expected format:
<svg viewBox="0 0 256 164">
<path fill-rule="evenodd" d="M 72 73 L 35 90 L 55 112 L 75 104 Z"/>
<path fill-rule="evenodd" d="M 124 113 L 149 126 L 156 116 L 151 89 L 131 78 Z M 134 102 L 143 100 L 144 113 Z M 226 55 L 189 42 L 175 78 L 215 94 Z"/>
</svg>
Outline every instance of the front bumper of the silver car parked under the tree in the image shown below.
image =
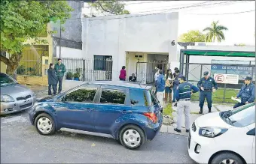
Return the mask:
<svg viewBox="0 0 256 164">
<path fill-rule="evenodd" d="M 8 115 L 14 112 L 20 112 L 31 108 L 36 101 L 35 97 L 30 97 L 27 100 L 16 100 L 9 103 L 1 103 L 1 115 Z"/>
</svg>

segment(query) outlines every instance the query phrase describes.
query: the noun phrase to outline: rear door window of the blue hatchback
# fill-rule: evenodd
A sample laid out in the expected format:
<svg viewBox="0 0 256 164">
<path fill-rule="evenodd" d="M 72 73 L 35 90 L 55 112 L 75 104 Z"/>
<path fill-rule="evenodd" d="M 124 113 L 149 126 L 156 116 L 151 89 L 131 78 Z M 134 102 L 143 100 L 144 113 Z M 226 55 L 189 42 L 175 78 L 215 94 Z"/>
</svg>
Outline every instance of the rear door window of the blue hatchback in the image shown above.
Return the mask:
<svg viewBox="0 0 256 164">
<path fill-rule="evenodd" d="M 124 91 L 103 89 L 99 103 L 124 104 L 126 94 Z"/>
</svg>

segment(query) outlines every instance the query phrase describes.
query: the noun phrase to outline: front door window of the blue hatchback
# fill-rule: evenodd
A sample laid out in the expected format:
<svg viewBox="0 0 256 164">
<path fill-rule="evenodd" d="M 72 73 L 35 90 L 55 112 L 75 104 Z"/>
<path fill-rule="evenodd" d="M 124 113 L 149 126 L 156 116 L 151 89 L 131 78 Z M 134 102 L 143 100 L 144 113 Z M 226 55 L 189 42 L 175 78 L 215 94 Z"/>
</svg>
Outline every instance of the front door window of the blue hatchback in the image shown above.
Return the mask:
<svg viewBox="0 0 256 164">
<path fill-rule="evenodd" d="M 67 102 L 84 102 L 93 103 L 94 96 L 96 94 L 97 88 L 81 88 L 76 91 L 72 91 L 66 94 L 64 101 Z"/>
</svg>

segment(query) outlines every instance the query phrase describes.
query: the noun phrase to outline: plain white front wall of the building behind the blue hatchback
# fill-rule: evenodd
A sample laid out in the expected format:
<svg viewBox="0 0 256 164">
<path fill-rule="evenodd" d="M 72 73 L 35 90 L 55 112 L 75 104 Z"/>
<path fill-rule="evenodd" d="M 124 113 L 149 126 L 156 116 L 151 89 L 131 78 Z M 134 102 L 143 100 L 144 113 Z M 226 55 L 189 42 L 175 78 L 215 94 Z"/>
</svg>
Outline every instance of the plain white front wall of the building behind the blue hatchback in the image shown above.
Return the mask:
<svg viewBox="0 0 256 164">
<path fill-rule="evenodd" d="M 134 17 L 130 17 L 134 16 Z M 130 17 L 130 18 L 126 18 Z M 126 64 L 126 52 L 165 52 L 169 61 L 178 61 L 178 13 L 148 16 L 121 15 L 83 20 L 83 57 L 111 55 L 113 80 L 118 79 L 120 68 Z"/>
</svg>

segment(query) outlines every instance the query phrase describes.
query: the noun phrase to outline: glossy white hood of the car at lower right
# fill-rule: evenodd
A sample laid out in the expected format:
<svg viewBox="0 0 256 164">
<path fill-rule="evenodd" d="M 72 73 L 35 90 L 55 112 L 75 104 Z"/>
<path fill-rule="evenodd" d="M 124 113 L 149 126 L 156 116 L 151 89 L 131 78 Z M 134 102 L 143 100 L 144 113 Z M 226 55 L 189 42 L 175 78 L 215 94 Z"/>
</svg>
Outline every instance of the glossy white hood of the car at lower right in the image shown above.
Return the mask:
<svg viewBox="0 0 256 164">
<path fill-rule="evenodd" d="M 202 115 L 195 121 L 198 127 L 232 127 L 222 120 L 220 112 L 213 112 L 206 115 Z"/>
</svg>

